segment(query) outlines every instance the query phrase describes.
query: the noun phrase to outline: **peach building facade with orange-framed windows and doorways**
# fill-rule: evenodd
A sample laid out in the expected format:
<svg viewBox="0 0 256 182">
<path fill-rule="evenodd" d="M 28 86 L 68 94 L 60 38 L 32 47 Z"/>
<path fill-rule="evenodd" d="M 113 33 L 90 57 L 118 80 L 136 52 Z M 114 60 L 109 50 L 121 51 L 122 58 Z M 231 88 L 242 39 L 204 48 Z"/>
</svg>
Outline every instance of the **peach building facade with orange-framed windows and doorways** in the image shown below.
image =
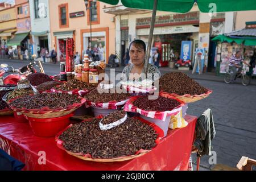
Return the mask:
<svg viewBox="0 0 256 182">
<path fill-rule="evenodd" d="M 88 4 L 88 7 L 93 7 L 92 17 L 83 0 L 77 0 L 76 3 L 71 0 L 49 1 L 51 48 L 56 49 L 58 61 L 65 60 L 67 38 L 75 40 L 75 52 L 80 53 L 81 59 L 90 42 L 93 48 L 101 44 L 104 48 L 102 59 L 106 62 L 109 55 L 115 53 L 114 15 L 104 13 L 105 4 L 102 2 L 89 0 Z"/>
</svg>

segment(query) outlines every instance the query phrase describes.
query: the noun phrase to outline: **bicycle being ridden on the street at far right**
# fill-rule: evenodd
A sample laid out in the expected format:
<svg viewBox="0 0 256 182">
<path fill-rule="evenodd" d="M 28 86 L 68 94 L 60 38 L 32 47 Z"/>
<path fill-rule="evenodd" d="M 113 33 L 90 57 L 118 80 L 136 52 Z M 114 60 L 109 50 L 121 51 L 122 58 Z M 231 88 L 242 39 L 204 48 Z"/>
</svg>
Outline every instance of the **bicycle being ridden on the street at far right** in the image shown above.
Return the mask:
<svg viewBox="0 0 256 182">
<path fill-rule="evenodd" d="M 243 64 L 242 70 L 237 72 L 237 75 L 234 79 L 234 80 L 236 80 L 236 78 L 241 77 L 241 82 L 242 82 L 243 86 L 248 86 L 251 82 L 251 77 L 246 75 L 248 68 L 249 67 L 246 64 Z M 230 84 L 232 82 L 232 75 L 233 75 L 233 71 L 228 69 L 228 71 L 224 75 L 224 81 L 226 82 L 226 84 Z"/>
</svg>

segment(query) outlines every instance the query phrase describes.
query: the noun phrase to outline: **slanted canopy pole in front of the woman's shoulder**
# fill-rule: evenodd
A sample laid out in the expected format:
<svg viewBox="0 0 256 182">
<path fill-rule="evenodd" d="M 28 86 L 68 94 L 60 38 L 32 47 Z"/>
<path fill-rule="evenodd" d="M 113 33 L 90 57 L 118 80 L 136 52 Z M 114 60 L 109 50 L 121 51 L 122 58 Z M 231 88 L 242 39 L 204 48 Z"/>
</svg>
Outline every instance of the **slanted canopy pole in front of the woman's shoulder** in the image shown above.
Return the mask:
<svg viewBox="0 0 256 182">
<path fill-rule="evenodd" d="M 147 76 L 148 61 L 150 58 L 150 51 L 151 51 L 151 46 L 152 46 L 153 32 L 154 32 L 154 27 L 155 27 L 155 15 L 156 15 L 157 6 L 158 6 L 158 0 L 155 0 L 153 12 L 152 12 L 151 24 L 150 24 L 150 35 L 148 36 L 146 60 L 145 60 L 145 64 L 144 64 L 144 73 L 146 74 L 146 76 Z"/>
</svg>

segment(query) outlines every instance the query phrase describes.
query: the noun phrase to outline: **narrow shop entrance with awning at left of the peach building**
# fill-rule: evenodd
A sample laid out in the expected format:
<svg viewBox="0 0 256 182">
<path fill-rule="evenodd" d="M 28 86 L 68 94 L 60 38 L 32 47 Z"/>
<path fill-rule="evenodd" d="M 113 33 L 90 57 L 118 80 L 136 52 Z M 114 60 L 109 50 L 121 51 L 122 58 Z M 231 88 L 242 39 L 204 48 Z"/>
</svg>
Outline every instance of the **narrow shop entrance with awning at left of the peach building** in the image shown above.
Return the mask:
<svg viewBox="0 0 256 182">
<path fill-rule="evenodd" d="M 53 36 L 55 37 L 57 61 L 65 61 L 66 42 L 68 38 L 75 38 L 74 32 L 75 31 L 53 32 Z"/>
</svg>

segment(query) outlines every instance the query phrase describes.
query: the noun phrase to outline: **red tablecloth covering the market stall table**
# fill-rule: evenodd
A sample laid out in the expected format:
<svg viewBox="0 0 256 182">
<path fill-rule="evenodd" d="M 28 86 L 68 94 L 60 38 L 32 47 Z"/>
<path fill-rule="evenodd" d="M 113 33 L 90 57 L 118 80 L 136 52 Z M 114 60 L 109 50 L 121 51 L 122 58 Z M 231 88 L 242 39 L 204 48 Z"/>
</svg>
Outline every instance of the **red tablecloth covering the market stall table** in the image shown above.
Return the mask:
<svg viewBox="0 0 256 182">
<path fill-rule="evenodd" d="M 187 115 L 185 119 L 187 127 L 169 130 L 154 150 L 126 162 L 78 159 L 60 150 L 54 137 L 36 137 L 28 123 L 17 123 L 13 117 L 0 117 L 0 148 L 25 163 L 24 170 L 187 170 L 196 117 Z M 40 163 L 40 151 L 46 152 L 46 164 Z"/>
</svg>

